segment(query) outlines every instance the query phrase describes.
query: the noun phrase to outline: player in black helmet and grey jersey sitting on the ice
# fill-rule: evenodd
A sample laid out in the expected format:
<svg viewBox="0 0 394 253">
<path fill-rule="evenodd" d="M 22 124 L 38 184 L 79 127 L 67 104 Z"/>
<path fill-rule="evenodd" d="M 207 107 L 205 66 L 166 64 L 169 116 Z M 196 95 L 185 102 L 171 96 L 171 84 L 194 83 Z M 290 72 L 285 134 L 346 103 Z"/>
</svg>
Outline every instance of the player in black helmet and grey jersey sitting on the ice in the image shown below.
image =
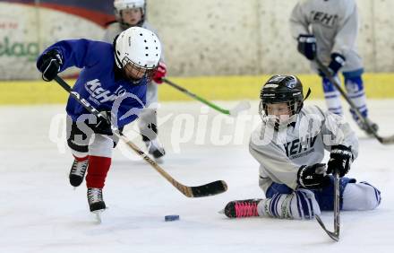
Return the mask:
<svg viewBox="0 0 394 253">
<path fill-rule="evenodd" d="M 227 217 L 312 219 L 321 210 L 333 210 L 334 168 L 341 177 L 342 210 L 372 210 L 381 203 L 377 188 L 344 177 L 357 157 L 355 133 L 338 115 L 304 107 L 306 97 L 294 75 L 274 75 L 262 87 L 262 122 L 249 149 L 260 163 L 259 185 L 267 198 L 231 201 Z M 330 152 L 327 166 L 321 163 L 325 150 Z"/>
</svg>

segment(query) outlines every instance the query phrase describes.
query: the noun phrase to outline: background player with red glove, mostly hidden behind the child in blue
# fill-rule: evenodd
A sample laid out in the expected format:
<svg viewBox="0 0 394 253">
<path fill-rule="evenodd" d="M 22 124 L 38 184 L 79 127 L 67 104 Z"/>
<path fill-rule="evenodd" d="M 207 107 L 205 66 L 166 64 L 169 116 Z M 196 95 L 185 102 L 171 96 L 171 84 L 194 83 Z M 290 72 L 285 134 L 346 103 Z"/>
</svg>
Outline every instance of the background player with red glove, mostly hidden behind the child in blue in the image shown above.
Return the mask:
<svg viewBox="0 0 394 253">
<path fill-rule="evenodd" d="M 116 36 L 129 27 L 139 26 L 150 31 L 157 32 L 145 21 L 146 3 L 145 0 L 115 0 L 114 1 L 116 22 L 108 25 L 104 35 L 104 41 L 113 43 Z M 158 86 L 156 83 L 163 83 L 161 78 L 167 74 L 167 66 L 164 64 L 164 56 L 161 55 L 158 65 L 158 71 L 153 76 L 153 82 L 148 84 L 146 108 L 142 111 L 139 118 L 139 127 L 142 140 L 148 148 L 148 152 L 155 159 L 161 158 L 165 150 L 158 141 L 158 120 L 157 120 L 157 102 Z"/>
</svg>

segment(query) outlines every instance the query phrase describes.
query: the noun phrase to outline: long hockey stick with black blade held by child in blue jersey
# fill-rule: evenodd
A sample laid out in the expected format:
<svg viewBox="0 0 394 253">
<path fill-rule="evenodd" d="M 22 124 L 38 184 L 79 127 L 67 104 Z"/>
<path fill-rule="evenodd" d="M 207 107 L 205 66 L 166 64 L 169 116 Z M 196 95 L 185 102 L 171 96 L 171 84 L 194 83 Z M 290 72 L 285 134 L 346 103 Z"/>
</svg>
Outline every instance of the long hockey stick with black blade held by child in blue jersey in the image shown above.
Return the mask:
<svg viewBox="0 0 394 253">
<path fill-rule="evenodd" d="M 153 169 L 157 170 L 161 176 L 167 179 L 167 181 L 175 188 L 177 188 L 182 194 L 184 194 L 184 196 L 188 196 L 188 197 L 212 196 L 212 195 L 223 193 L 227 190 L 227 184 L 223 180 L 214 181 L 209 184 L 197 186 L 197 187 L 184 186 L 180 182 L 176 181 L 176 179 L 171 177 L 171 175 L 169 175 L 165 170 L 163 170 L 156 161 L 153 161 L 146 153 L 143 153 L 137 145 L 133 144 L 132 141 L 130 141 L 122 132 L 120 132 L 119 129 L 116 126 L 114 126 L 106 116 L 104 116 L 97 109 L 91 106 L 88 100 L 81 98 L 81 95 L 78 92 L 73 92 L 70 85 L 65 83 L 61 77 L 56 76 L 55 80 L 57 83 L 60 84 L 60 86 L 64 88 L 66 92 L 70 93 L 70 96 L 72 96 L 75 100 L 81 103 L 81 105 L 85 109 L 87 109 L 91 114 L 95 115 L 97 118 L 106 119 L 107 122 L 110 124 L 113 133 L 117 137 L 122 139 L 124 143 L 127 144 L 130 148 L 132 148 L 135 153 L 140 155 L 141 158 L 143 158 L 143 160 L 147 161 L 150 164 L 150 166 L 153 167 Z"/>
</svg>

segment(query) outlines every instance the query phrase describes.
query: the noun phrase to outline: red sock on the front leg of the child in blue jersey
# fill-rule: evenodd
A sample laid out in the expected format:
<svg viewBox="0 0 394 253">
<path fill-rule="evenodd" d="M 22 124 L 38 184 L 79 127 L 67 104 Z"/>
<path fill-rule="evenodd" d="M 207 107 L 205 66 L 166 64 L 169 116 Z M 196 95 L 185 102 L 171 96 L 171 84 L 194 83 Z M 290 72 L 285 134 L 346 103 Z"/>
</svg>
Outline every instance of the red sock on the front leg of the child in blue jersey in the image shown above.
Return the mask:
<svg viewBox="0 0 394 253">
<path fill-rule="evenodd" d="M 110 166 L 111 158 L 90 155 L 86 186 L 88 188 L 104 188 Z"/>
</svg>

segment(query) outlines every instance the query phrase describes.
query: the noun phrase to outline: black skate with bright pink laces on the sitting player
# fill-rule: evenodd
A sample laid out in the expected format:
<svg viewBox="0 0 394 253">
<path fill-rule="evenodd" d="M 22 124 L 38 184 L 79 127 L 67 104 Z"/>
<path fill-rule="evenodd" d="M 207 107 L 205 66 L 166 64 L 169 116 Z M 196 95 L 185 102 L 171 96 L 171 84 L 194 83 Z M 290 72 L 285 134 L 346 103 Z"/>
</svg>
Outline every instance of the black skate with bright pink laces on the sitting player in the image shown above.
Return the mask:
<svg viewBox="0 0 394 253">
<path fill-rule="evenodd" d="M 261 199 L 234 200 L 227 203 L 222 213 L 228 218 L 259 216 L 257 205 L 260 201 Z"/>
</svg>

